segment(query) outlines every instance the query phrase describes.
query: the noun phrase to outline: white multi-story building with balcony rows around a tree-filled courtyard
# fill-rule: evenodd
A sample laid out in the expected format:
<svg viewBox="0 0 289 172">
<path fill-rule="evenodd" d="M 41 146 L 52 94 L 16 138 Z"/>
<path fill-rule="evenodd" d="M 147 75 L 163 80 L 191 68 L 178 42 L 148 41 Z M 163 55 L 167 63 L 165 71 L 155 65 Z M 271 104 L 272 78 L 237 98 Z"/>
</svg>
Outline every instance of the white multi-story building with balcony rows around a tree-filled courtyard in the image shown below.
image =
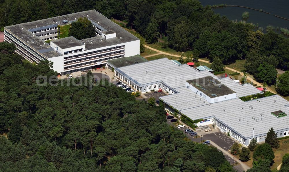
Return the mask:
<svg viewBox="0 0 289 172">
<path fill-rule="evenodd" d="M 58 39 L 61 27 L 80 17 L 92 23 L 96 36 L 83 40 Z M 15 52 L 32 63 L 54 62 L 53 69 L 62 75 L 101 67 L 110 59 L 140 54 L 140 40 L 96 10 L 6 26 L 4 40 L 14 43 Z"/>
</svg>

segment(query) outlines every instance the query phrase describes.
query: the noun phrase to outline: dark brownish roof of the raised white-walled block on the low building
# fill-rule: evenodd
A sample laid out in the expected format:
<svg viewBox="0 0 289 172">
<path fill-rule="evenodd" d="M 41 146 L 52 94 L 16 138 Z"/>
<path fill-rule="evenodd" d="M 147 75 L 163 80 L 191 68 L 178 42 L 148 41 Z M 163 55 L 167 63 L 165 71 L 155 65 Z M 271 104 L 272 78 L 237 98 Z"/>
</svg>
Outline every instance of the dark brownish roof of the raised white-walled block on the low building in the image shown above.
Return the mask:
<svg viewBox="0 0 289 172">
<path fill-rule="evenodd" d="M 229 89 L 229 87 L 216 80 L 212 76 L 187 80 L 187 82 L 210 98 L 235 93 L 233 90 Z"/>
</svg>

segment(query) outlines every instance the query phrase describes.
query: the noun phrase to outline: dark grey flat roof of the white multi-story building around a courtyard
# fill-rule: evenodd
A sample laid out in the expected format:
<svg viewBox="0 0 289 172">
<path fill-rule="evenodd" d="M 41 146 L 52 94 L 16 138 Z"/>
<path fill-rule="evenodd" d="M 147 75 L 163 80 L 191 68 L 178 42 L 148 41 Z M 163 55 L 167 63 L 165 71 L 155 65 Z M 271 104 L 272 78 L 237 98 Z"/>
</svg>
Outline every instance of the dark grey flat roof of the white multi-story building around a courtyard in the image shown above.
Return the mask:
<svg viewBox="0 0 289 172">
<path fill-rule="evenodd" d="M 48 26 L 48 25 L 57 25 L 58 23 L 61 23 L 62 20 L 74 21 L 75 18 L 78 19 L 79 17 L 86 17 L 94 21 L 95 23 L 99 22 L 99 25 L 105 30 L 111 29 L 112 31 L 116 32 L 116 38 L 111 38 L 107 40 L 103 39 L 102 41 L 94 41 L 92 43 L 91 42 L 87 43 L 85 47 L 88 50 L 139 40 L 136 36 L 127 32 L 125 29 L 121 28 L 121 26 L 112 22 L 110 19 L 108 19 L 101 13 L 97 12 L 96 10 L 77 12 L 73 14 L 58 16 L 58 17 L 52 17 L 49 19 L 43 19 L 43 20 L 32 21 L 28 23 L 5 26 L 4 29 L 11 32 L 14 36 L 16 36 L 18 39 L 21 39 L 23 42 L 25 42 L 29 46 L 33 47 L 35 50 L 39 51 L 42 49 L 48 49 L 50 45 L 45 43 L 45 41 L 42 41 L 36 35 L 32 34 L 32 32 L 30 32 L 28 29 L 34 29 L 36 28 L 36 25 L 37 25 L 37 28 Z M 120 37 L 122 38 L 120 39 Z M 42 54 L 46 56 L 47 58 L 57 57 L 61 55 L 60 53 L 54 52 L 53 50 L 42 53 Z"/>
</svg>

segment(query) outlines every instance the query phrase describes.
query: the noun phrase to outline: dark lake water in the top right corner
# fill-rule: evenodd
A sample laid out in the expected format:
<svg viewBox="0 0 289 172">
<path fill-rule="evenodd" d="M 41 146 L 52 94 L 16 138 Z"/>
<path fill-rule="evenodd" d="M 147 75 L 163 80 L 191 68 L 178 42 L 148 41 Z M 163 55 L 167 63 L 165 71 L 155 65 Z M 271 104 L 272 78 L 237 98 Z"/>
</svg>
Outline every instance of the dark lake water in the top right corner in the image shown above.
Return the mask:
<svg viewBox="0 0 289 172">
<path fill-rule="evenodd" d="M 248 11 L 250 17 L 245 20 L 247 23 L 257 24 L 259 27 L 264 29 L 266 32 L 267 25 L 273 25 L 274 27 L 279 26 L 279 28 L 289 28 L 289 20 L 280 19 L 273 16 L 273 14 L 289 19 L 289 0 L 199 0 L 203 6 L 215 5 L 215 4 L 227 4 L 227 5 L 239 5 L 246 6 L 249 8 L 262 9 L 263 11 L 269 12 L 271 14 L 266 14 L 264 12 L 251 10 L 241 7 L 221 7 L 212 8 L 215 13 L 221 16 L 225 15 L 230 20 L 244 20 L 242 19 L 242 13 Z M 278 32 L 278 31 L 277 31 Z"/>
</svg>

